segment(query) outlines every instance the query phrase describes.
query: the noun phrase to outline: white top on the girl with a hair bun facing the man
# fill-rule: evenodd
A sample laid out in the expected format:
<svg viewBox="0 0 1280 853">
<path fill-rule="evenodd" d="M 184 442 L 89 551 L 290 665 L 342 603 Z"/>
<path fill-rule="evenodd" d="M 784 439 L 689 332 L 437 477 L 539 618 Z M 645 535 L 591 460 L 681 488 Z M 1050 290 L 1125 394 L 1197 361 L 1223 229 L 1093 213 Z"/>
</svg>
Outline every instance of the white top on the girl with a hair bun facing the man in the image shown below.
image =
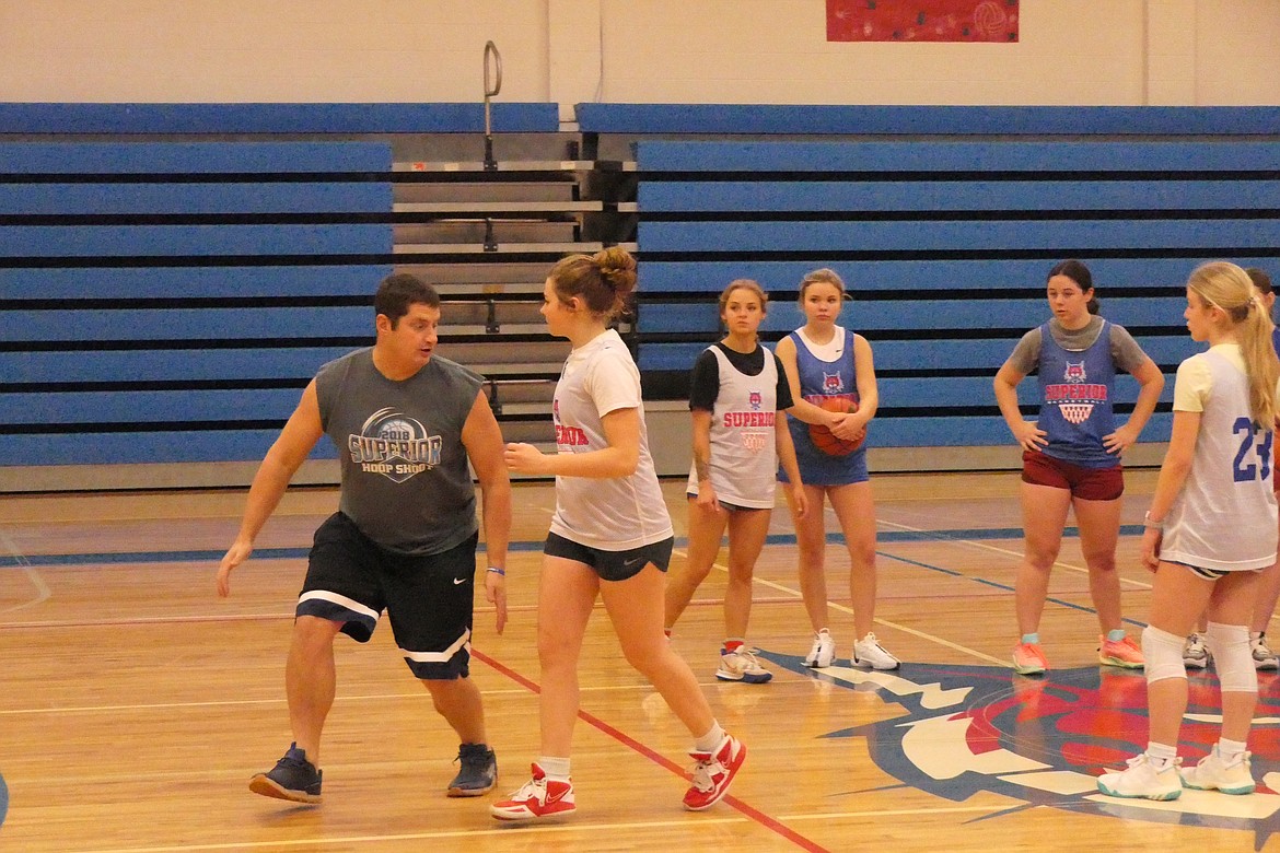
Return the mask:
<svg viewBox="0 0 1280 853">
<path fill-rule="evenodd" d="M 609 329 L 564 361 L 552 404 L 559 453 L 608 448 L 600 418 L 618 409 L 640 413 L 640 462 L 635 473 L 556 478 L 552 532 L 602 551 L 627 551 L 675 535 L 649 455 L 640 371 L 618 333 Z"/>
</svg>

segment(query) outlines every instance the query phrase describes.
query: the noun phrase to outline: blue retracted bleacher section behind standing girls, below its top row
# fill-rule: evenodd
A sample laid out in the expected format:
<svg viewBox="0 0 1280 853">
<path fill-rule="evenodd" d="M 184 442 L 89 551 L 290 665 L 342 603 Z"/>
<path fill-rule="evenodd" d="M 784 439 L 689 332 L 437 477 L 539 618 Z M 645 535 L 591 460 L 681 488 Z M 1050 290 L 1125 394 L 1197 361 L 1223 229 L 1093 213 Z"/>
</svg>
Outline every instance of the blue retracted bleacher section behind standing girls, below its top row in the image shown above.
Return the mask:
<svg viewBox="0 0 1280 853">
<path fill-rule="evenodd" d="M 1275 271 L 1280 254 L 1276 141 L 641 137 L 635 148 L 646 390 L 684 393 L 719 334 L 728 281 L 772 294 L 763 330 L 777 340 L 803 322 L 801 276 L 829 266 L 852 295 L 842 321 L 874 348 L 881 448 L 1009 445 L 991 380 L 1047 318 L 1057 260 L 1091 266 L 1103 316 L 1171 379 L 1197 349 L 1181 318 L 1193 266 Z M 1167 440 L 1171 391 L 1143 441 Z M 1137 382 L 1123 377 L 1117 395 L 1130 411 Z"/>
</svg>

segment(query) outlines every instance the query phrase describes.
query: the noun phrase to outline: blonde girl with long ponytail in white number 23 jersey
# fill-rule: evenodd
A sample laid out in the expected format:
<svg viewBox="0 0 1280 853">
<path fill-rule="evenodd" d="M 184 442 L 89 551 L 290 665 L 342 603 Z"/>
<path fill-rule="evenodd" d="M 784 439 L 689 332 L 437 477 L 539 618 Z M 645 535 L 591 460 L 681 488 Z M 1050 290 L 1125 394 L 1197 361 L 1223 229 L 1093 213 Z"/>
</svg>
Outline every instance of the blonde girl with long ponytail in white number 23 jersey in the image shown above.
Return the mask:
<svg viewBox="0 0 1280 853">
<path fill-rule="evenodd" d="M 1276 382 L 1271 320 L 1244 270 L 1213 262 L 1187 281 L 1187 329 L 1208 350 L 1178 367 L 1174 428 L 1142 537 L 1155 572 L 1147 656 L 1146 752 L 1098 778 L 1111 797 L 1176 799 L 1183 788 L 1254 790 L 1247 739 L 1258 698 L 1249 618 L 1262 572 L 1276 561 Z M 1187 712 L 1183 638 L 1208 607 L 1206 643 L 1222 693 L 1220 738 L 1179 771 Z"/>
</svg>

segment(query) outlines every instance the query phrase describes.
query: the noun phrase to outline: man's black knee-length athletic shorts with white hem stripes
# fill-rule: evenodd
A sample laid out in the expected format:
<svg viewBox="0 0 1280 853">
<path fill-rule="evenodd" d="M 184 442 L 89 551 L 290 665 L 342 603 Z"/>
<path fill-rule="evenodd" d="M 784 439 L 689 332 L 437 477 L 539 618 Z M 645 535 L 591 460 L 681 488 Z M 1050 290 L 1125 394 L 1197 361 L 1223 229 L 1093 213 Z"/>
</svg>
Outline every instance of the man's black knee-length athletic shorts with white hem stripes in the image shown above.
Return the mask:
<svg viewBox="0 0 1280 853">
<path fill-rule="evenodd" d="M 387 610 L 413 675 L 466 678 L 477 540 L 472 533 L 439 554 L 399 554 L 334 513 L 316 531 L 296 615 L 340 622 L 344 634 L 364 643 Z"/>
</svg>

